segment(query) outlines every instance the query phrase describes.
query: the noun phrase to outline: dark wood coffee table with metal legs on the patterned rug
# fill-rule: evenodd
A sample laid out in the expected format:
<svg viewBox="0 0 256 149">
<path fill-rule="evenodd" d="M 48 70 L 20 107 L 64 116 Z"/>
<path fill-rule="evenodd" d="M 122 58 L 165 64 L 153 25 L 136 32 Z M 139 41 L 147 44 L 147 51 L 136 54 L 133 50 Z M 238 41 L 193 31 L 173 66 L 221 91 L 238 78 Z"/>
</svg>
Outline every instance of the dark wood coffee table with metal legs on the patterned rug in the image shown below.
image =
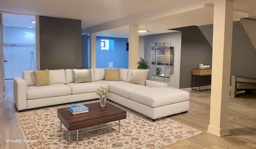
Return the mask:
<svg viewBox="0 0 256 149">
<path fill-rule="evenodd" d="M 78 133 L 78 129 L 81 129 L 84 127 L 90 127 L 94 125 L 100 125 L 100 124 L 108 123 L 112 121 L 119 121 L 119 123 L 115 125 L 102 127 L 102 128 L 118 125 L 119 133 L 120 133 L 120 127 L 121 127 L 120 120 L 126 119 L 126 111 L 108 102 L 106 102 L 105 107 L 100 107 L 99 102 L 88 103 L 85 105 L 86 107 L 89 108 L 89 112 L 81 113 L 77 115 L 72 115 L 68 111 L 68 107 L 57 109 L 57 116 L 60 119 L 60 130 L 62 129 L 62 123 L 63 123 L 63 125 L 68 129 L 69 142 L 70 142 L 70 131 L 72 130 L 76 130 L 76 133 L 72 135 L 76 135 L 76 143 L 78 143 L 78 134 L 88 132 L 88 131 L 83 131 Z M 98 128 L 98 129 L 102 129 L 102 128 Z M 98 130 L 98 129 L 93 129 L 93 130 Z M 89 130 L 89 131 L 93 131 L 93 130 Z"/>
</svg>

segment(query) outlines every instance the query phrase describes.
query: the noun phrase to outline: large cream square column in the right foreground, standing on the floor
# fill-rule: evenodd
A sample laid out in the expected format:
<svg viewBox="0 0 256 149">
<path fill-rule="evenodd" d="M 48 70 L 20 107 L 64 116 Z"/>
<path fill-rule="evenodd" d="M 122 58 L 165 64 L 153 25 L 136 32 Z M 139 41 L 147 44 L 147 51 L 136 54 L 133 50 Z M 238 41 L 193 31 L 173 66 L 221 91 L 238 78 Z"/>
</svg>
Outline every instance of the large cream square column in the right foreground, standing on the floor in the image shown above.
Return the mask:
<svg viewBox="0 0 256 149">
<path fill-rule="evenodd" d="M 228 100 L 233 30 L 233 0 L 214 0 L 212 44 L 212 89 L 208 132 L 230 135 Z"/>
</svg>

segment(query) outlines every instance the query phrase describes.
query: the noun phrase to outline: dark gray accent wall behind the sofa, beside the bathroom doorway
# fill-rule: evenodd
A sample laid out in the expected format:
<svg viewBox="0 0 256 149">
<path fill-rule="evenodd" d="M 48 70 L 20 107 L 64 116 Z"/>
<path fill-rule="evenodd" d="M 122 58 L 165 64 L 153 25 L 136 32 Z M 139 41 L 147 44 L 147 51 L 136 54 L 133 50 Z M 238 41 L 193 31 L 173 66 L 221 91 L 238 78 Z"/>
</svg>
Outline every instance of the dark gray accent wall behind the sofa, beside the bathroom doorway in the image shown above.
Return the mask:
<svg viewBox="0 0 256 149">
<path fill-rule="evenodd" d="M 40 69 L 82 68 L 81 20 L 40 16 Z"/>
</svg>

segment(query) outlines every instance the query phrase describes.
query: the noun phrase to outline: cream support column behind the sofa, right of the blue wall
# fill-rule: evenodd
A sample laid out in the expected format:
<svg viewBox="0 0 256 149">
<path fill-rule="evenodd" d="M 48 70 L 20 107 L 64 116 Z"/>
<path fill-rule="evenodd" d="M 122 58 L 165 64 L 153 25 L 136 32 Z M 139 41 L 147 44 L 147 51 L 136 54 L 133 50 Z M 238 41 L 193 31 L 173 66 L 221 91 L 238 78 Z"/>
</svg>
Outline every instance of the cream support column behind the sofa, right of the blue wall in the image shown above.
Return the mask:
<svg viewBox="0 0 256 149">
<path fill-rule="evenodd" d="M 139 53 L 139 25 L 129 26 L 129 69 L 137 69 Z"/>
</svg>

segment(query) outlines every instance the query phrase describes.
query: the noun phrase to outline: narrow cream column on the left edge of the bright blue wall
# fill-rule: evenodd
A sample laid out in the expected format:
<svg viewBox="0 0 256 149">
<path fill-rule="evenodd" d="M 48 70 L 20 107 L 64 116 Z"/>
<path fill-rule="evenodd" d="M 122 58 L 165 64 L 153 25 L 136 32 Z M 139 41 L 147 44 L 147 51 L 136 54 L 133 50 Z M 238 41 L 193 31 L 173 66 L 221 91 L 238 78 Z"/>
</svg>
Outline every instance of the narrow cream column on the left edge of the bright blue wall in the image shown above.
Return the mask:
<svg viewBox="0 0 256 149">
<path fill-rule="evenodd" d="M 96 33 L 90 34 L 91 68 L 96 68 Z"/>
</svg>

